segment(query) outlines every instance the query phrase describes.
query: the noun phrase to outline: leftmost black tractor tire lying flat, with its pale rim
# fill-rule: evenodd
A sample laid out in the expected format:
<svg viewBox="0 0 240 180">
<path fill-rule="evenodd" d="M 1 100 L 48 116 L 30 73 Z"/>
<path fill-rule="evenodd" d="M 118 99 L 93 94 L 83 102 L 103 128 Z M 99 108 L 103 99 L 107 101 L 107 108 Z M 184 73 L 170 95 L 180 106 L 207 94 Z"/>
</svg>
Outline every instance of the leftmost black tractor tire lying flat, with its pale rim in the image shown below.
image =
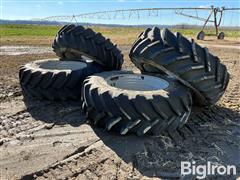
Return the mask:
<svg viewBox="0 0 240 180">
<path fill-rule="evenodd" d="M 20 67 L 20 85 L 25 96 L 47 100 L 79 99 L 84 79 L 102 69 L 92 63 L 38 60 Z"/>
</svg>

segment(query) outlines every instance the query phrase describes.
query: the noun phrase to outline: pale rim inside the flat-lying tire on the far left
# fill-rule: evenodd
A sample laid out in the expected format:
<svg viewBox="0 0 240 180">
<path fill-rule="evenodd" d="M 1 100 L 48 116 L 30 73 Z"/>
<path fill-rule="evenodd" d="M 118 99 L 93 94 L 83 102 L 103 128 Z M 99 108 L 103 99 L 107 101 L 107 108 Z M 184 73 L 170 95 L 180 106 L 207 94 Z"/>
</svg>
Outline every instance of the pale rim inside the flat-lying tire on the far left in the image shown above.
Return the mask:
<svg viewBox="0 0 240 180">
<path fill-rule="evenodd" d="M 87 66 L 86 63 L 78 61 L 46 61 L 38 63 L 39 68 L 49 70 L 78 70 Z"/>
</svg>

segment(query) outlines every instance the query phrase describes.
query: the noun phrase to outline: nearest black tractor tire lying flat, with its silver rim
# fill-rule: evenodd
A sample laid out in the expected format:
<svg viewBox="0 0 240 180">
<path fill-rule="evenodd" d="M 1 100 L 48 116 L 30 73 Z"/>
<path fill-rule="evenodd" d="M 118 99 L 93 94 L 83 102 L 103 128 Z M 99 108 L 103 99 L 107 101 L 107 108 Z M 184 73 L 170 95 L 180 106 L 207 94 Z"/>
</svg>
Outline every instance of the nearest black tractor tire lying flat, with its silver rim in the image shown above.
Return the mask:
<svg viewBox="0 0 240 180">
<path fill-rule="evenodd" d="M 155 83 L 160 81 L 162 84 Z M 182 127 L 191 113 L 190 91 L 169 77 L 103 72 L 89 76 L 82 90 L 87 118 L 121 135 L 172 132 Z"/>
</svg>

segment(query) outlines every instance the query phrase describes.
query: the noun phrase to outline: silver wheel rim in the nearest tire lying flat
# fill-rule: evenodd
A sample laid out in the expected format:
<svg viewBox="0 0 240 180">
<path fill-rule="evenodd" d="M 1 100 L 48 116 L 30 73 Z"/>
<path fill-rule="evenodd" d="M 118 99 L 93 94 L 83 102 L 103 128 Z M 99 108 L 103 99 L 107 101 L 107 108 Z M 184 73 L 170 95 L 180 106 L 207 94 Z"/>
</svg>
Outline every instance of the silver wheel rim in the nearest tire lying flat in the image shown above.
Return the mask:
<svg viewBox="0 0 240 180">
<path fill-rule="evenodd" d="M 119 74 L 106 80 L 112 87 L 130 91 L 157 91 L 169 86 L 166 80 L 148 75 Z"/>
</svg>

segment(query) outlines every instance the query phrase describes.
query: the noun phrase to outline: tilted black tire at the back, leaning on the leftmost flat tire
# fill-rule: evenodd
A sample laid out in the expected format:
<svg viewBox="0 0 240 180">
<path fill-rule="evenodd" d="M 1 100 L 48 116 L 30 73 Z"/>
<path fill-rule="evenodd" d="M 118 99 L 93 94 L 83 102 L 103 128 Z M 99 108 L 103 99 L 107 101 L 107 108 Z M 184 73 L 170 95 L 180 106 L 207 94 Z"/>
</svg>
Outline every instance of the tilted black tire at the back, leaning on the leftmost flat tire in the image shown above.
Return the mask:
<svg viewBox="0 0 240 180">
<path fill-rule="evenodd" d="M 52 44 L 53 51 L 64 60 L 90 59 L 106 71 L 120 70 L 123 55 L 120 50 L 100 33 L 83 26 L 66 25 L 59 30 Z"/>
</svg>

